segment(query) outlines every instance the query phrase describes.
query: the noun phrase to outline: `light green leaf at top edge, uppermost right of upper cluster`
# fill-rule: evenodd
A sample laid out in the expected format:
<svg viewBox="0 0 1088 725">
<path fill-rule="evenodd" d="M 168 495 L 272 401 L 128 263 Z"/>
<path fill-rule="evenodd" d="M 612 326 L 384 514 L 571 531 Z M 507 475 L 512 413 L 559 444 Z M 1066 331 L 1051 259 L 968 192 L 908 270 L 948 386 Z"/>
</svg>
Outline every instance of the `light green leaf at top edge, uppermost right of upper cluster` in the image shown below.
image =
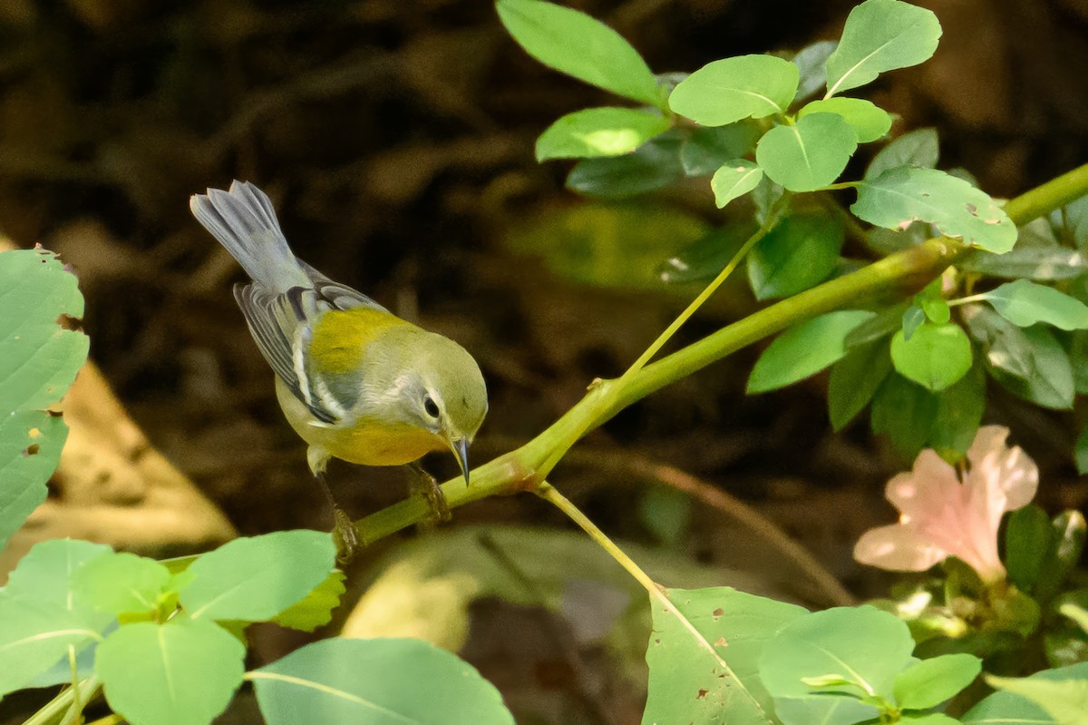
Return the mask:
<svg viewBox="0 0 1088 725">
<path fill-rule="evenodd" d="M 850 11 L 839 47 L 827 59 L 828 97 L 928 60 L 940 37 L 941 24 L 931 11 L 898 0 L 866 0 Z"/>
</svg>

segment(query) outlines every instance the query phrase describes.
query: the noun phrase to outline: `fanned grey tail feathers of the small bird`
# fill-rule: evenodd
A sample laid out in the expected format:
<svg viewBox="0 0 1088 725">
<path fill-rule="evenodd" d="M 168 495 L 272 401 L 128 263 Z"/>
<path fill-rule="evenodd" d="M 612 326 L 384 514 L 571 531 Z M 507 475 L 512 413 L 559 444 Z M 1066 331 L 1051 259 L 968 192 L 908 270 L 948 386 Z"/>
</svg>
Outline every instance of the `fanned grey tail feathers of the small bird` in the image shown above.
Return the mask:
<svg viewBox="0 0 1088 725">
<path fill-rule="evenodd" d="M 272 201 L 249 182 L 194 194 L 189 209 L 257 284 L 276 293 L 312 285 L 280 230 Z"/>
</svg>

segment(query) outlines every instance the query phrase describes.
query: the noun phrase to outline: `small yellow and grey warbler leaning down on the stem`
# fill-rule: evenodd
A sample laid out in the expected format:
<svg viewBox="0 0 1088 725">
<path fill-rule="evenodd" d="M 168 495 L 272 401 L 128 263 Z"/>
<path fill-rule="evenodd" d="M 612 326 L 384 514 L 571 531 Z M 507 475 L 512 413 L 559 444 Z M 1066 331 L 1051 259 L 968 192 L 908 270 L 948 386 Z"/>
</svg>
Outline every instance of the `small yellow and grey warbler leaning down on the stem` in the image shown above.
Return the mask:
<svg viewBox="0 0 1088 725">
<path fill-rule="evenodd" d="M 275 372 L 284 416 L 309 444 L 310 471 L 332 504 L 342 561 L 360 542 L 325 483 L 330 458 L 408 464 L 432 511 L 447 518 L 442 489 L 417 462 L 448 448 L 468 484 L 468 447 L 487 413 L 472 356 L 295 257 L 271 200 L 249 182 L 195 194 L 189 208 L 252 280 L 235 285 L 234 297 Z"/>
</svg>

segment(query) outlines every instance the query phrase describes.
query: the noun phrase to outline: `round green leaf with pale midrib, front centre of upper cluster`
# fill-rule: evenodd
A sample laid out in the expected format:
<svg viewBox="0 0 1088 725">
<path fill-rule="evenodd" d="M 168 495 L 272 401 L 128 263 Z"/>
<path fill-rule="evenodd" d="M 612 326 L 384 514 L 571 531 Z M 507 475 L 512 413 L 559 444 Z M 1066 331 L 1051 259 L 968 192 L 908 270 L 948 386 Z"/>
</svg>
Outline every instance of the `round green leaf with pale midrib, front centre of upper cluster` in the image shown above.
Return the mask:
<svg viewBox="0 0 1088 725">
<path fill-rule="evenodd" d="M 841 115 L 812 113 L 765 133 L 755 160 L 791 192 L 815 192 L 834 183 L 856 148 L 857 134 Z"/>
</svg>

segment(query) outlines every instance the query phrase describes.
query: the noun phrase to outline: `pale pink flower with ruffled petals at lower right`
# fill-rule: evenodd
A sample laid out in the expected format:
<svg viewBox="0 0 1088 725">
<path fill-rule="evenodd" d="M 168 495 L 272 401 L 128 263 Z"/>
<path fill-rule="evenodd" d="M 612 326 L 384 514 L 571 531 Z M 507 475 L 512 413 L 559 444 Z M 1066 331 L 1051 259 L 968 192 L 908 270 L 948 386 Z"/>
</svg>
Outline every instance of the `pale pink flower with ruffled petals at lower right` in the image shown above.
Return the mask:
<svg viewBox="0 0 1088 725">
<path fill-rule="evenodd" d="M 899 524 L 866 531 L 854 546 L 862 564 L 898 572 L 924 572 L 957 556 L 986 581 L 1005 577 L 998 556 L 998 526 L 1006 511 L 1025 506 L 1039 486 L 1039 469 L 1018 447 L 1005 445 L 1009 429 L 979 429 L 967 451 L 963 482 L 932 450 L 914 469 L 888 481 L 886 495 L 899 508 Z"/>
</svg>

